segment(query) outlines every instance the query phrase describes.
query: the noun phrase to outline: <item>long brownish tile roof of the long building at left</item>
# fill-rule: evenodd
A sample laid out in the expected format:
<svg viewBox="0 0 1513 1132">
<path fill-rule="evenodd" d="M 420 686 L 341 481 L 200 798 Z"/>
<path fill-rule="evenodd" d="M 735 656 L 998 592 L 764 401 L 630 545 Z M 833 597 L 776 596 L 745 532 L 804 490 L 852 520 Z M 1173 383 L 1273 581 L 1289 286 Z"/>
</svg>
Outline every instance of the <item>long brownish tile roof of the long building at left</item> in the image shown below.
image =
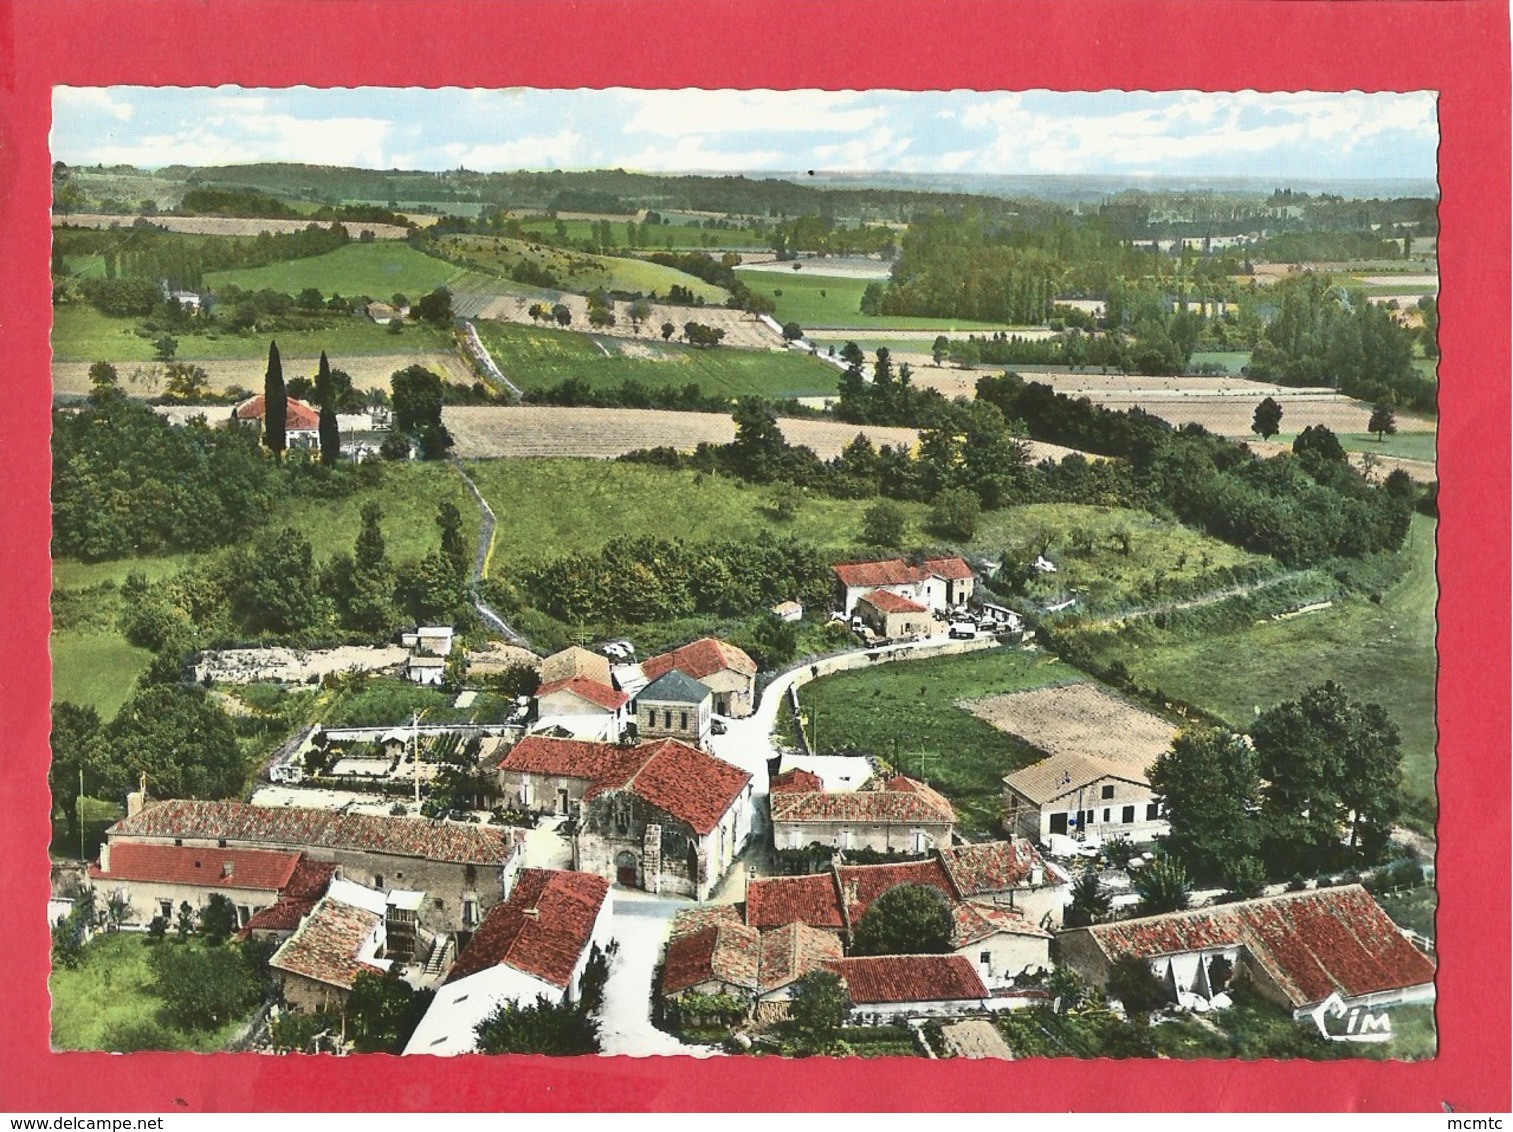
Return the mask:
<svg viewBox="0 0 1513 1132">
<path fill-rule="evenodd" d="M 514 832 L 504 826 L 189 799 L 150 802 L 106 835 L 112 858 L 124 840 L 138 838 L 346 849 L 481 866 L 501 866 L 514 855 Z"/>
</svg>

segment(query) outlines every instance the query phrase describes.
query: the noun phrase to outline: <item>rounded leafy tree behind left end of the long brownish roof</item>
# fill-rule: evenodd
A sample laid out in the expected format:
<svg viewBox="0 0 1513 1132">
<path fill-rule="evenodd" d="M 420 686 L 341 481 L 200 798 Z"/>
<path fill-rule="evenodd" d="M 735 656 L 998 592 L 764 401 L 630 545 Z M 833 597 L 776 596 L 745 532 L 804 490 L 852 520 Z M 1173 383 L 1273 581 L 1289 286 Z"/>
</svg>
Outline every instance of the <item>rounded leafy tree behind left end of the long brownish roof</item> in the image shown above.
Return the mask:
<svg viewBox="0 0 1513 1132">
<path fill-rule="evenodd" d="M 236 731 L 200 689 L 156 684 L 133 695 L 104 731 L 100 776 L 112 795 L 139 775 L 162 798 L 233 798 L 247 781 Z"/>
</svg>

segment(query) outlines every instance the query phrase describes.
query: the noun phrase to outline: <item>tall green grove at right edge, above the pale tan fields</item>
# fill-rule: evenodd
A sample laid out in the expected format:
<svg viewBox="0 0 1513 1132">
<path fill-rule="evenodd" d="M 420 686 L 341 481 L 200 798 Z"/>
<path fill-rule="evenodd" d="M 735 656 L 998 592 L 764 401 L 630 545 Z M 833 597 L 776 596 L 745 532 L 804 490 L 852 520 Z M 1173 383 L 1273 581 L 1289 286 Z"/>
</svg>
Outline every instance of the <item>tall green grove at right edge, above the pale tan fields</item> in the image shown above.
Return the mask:
<svg viewBox="0 0 1513 1132">
<path fill-rule="evenodd" d="M 1251 377 L 1333 386 L 1363 401 L 1434 412 L 1434 381 L 1413 368 L 1415 333 L 1392 312 L 1313 272 L 1275 291 L 1282 306 L 1256 344 Z"/>
</svg>

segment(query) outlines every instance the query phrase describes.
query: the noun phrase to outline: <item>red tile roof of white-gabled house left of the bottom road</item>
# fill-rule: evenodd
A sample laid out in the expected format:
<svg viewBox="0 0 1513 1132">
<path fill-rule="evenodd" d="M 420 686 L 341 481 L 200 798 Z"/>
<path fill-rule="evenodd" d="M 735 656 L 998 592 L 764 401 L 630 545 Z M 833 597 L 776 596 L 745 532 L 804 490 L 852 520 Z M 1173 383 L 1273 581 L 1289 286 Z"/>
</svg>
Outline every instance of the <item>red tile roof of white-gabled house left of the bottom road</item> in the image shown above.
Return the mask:
<svg viewBox="0 0 1513 1132">
<path fill-rule="evenodd" d="M 608 893 L 610 882 L 593 873 L 520 870 L 510 899 L 489 910 L 446 981 L 505 964 L 566 988 Z"/>
</svg>

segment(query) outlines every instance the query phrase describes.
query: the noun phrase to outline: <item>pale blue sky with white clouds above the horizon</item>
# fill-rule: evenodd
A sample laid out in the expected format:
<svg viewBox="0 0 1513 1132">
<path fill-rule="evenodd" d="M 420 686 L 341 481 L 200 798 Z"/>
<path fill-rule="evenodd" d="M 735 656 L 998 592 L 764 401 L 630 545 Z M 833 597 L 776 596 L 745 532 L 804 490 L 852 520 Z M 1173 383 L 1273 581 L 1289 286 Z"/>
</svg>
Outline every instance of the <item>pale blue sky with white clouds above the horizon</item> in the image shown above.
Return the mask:
<svg viewBox="0 0 1513 1132">
<path fill-rule="evenodd" d="M 70 165 L 1434 179 L 1433 92 L 56 88 Z"/>
</svg>

